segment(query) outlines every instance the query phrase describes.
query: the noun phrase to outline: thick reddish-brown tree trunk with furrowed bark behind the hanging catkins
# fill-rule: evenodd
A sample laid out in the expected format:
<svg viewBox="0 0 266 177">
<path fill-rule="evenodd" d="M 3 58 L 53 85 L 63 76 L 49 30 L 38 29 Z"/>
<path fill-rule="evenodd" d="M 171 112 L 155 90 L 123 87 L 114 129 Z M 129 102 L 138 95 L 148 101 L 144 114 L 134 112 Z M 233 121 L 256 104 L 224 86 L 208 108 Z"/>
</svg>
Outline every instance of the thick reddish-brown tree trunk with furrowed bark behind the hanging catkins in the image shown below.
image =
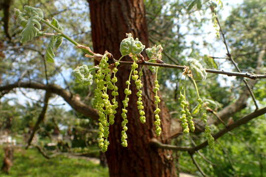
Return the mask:
<svg viewBox="0 0 266 177">
<path fill-rule="evenodd" d="M 103 54 L 110 52 L 115 59 L 121 54 L 119 46 L 126 33 L 149 47 L 148 32 L 145 19 L 143 0 L 88 0 L 90 3 L 91 28 L 94 52 Z M 144 55 L 144 54 L 143 54 Z M 147 60 L 147 58 L 145 57 Z M 149 146 L 152 138 L 156 137 L 154 129 L 154 75 L 144 70 L 143 104 L 145 106 L 146 123 L 139 120 L 137 97 L 134 83 L 131 84 L 133 93 L 129 96 L 128 106 L 128 147 L 121 146 L 121 109 L 125 98 L 124 88 L 130 73 L 129 66 L 121 66 L 118 71 L 119 88 L 118 112 L 115 124 L 110 126 L 109 141 L 106 154 L 110 177 L 175 177 L 176 172 L 172 152 L 164 149 L 154 149 Z M 162 119 L 162 135 L 157 137 L 161 142 L 169 137 L 169 114 L 163 103 L 160 104 Z"/>
</svg>

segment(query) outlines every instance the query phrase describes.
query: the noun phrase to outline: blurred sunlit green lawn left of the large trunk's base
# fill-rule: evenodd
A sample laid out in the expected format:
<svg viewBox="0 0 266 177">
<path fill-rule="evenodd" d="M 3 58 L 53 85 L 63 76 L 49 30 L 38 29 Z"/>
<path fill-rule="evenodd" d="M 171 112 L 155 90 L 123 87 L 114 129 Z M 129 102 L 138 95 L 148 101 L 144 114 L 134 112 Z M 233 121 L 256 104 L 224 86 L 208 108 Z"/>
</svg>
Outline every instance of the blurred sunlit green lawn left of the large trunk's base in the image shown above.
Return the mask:
<svg viewBox="0 0 266 177">
<path fill-rule="evenodd" d="M 3 149 L 0 147 L 0 166 Z M 15 149 L 10 174 L 0 177 L 108 177 L 108 169 L 85 159 L 44 158 L 36 149 Z"/>
</svg>

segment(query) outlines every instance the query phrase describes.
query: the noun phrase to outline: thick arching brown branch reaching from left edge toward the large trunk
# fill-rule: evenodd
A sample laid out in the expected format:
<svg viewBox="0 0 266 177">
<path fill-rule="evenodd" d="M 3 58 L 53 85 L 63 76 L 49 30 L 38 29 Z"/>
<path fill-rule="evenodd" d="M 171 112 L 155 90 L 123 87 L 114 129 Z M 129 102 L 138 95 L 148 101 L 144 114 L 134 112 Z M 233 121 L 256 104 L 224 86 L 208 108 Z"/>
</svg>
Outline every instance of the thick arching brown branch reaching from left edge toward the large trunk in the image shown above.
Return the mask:
<svg viewBox="0 0 266 177">
<path fill-rule="evenodd" d="M 63 88 L 61 88 L 58 85 L 55 84 L 49 84 L 49 85 L 44 85 L 44 84 L 39 84 L 39 83 L 15 83 L 15 84 L 10 84 L 6 86 L 0 87 L 0 91 L 7 91 L 11 90 L 14 88 L 30 88 L 30 89 L 42 89 L 42 90 L 48 90 L 52 93 L 55 93 L 62 98 L 77 112 L 83 114 L 84 116 L 88 118 L 93 118 L 93 119 L 98 119 L 98 112 L 96 109 L 86 105 L 82 101 L 80 101 L 80 97 L 73 95 L 70 91 L 67 91 Z"/>
</svg>

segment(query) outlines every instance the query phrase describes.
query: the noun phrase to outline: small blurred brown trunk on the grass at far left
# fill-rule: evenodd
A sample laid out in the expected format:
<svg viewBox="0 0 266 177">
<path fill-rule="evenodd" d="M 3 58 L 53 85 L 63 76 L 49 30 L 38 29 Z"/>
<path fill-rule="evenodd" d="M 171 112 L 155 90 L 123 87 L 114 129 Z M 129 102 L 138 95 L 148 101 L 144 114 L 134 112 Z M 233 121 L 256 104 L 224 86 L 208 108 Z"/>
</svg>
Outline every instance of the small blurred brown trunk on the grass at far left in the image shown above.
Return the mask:
<svg viewBox="0 0 266 177">
<path fill-rule="evenodd" d="M 4 147 L 4 159 L 1 171 L 8 174 L 11 166 L 13 165 L 13 148 L 11 146 Z"/>
</svg>

